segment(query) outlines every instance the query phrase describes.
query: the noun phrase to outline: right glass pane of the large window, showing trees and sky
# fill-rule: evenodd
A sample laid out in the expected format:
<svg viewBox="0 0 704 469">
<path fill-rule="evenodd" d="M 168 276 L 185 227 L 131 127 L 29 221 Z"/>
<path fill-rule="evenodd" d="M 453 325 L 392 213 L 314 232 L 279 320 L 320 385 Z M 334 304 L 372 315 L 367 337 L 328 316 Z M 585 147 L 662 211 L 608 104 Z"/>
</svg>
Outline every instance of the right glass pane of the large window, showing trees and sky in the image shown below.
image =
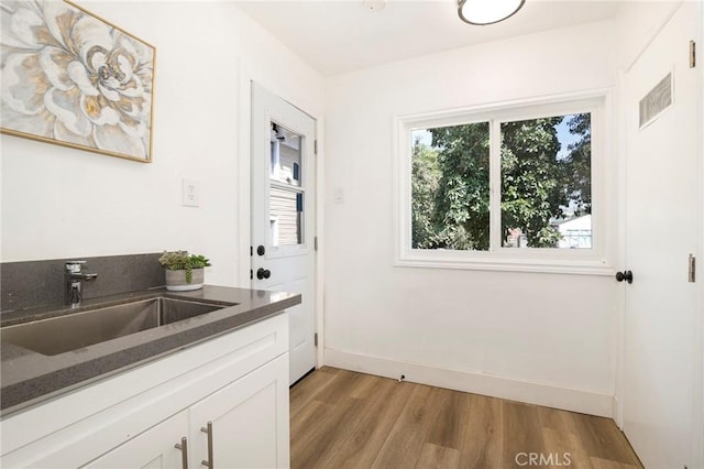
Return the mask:
<svg viewBox="0 0 704 469">
<path fill-rule="evenodd" d="M 504 248 L 592 248 L 590 113 L 501 124 Z"/>
</svg>

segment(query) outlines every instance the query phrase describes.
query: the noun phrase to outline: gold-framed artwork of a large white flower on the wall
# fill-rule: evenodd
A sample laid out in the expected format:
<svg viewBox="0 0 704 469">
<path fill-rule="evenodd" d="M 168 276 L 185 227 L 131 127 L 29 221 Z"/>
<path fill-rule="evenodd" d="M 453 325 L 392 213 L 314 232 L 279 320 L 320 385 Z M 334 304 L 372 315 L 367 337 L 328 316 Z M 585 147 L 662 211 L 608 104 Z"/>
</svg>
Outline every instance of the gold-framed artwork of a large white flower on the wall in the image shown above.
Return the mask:
<svg viewBox="0 0 704 469">
<path fill-rule="evenodd" d="M 3 133 L 152 161 L 154 46 L 68 1 L 0 15 Z"/>
</svg>

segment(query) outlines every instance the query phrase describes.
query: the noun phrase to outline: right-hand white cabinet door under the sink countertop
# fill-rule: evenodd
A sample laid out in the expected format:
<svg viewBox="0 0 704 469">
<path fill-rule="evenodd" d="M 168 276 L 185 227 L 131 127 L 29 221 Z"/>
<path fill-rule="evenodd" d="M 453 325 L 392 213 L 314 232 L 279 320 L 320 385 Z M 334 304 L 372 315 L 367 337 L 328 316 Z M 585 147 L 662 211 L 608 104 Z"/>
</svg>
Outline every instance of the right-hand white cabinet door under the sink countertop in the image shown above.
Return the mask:
<svg viewBox="0 0 704 469">
<path fill-rule="evenodd" d="M 210 435 L 201 429 L 208 422 Z M 288 353 L 191 406 L 190 424 L 191 467 L 209 460 L 209 437 L 210 467 L 288 467 Z"/>
</svg>

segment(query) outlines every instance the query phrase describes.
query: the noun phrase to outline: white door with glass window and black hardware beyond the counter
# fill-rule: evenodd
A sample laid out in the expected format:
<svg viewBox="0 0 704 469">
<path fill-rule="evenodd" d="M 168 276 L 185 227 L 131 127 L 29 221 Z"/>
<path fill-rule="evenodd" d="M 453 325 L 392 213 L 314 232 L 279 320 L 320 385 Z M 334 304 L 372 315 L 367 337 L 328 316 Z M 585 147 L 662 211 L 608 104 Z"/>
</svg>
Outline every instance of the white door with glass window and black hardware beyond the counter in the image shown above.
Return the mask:
<svg viewBox="0 0 704 469">
<path fill-rule="evenodd" d="M 301 294 L 289 384 L 316 367 L 315 142 L 310 116 L 252 84 L 252 288 Z"/>
</svg>

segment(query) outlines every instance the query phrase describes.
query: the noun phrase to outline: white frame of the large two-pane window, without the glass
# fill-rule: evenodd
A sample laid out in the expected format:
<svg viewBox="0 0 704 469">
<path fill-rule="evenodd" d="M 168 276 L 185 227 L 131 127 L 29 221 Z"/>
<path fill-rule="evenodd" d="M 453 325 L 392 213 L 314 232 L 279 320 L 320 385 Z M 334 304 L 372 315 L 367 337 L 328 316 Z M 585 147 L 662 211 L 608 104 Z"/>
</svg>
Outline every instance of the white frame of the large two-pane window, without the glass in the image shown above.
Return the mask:
<svg viewBox="0 0 704 469">
<path fill-rule="evenodd" d="M 612 118 L 612 91 L 594 90 L 557 97 L 493 103 L 396 117 L 395 194 L 397 266 L 612 275 L 618 221 L 613 200 L 618 170 Z M 504 248 L 501 227 L 501 124 L 553 116 L 591 112 L 592 249 Z M 490 122 L 490 250 L 411 248 L 411 173 L 414 130 Z"/>
</svg>

